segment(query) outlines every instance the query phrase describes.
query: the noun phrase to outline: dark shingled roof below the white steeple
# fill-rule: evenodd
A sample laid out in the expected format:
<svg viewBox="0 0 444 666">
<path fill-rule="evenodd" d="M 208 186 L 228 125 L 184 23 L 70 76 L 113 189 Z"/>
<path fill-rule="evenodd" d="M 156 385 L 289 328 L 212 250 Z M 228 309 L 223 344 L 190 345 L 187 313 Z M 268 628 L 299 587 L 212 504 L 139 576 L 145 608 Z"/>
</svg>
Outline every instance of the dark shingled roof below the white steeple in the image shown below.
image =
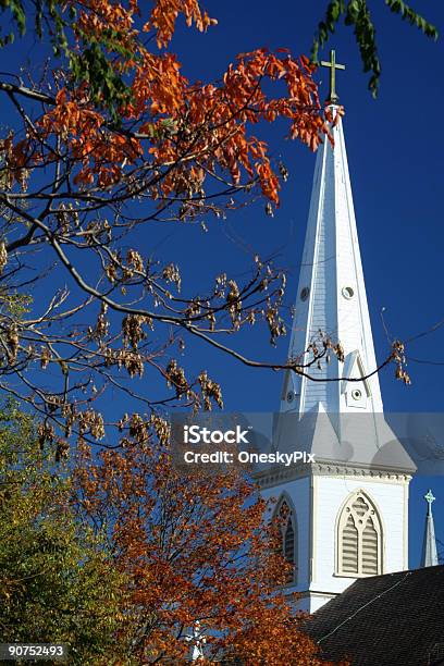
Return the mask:
<svg viewBox="0 0 444 666">
<path fill-rule="evenodd" d="M 361 578 L 314 613 L 306 631 L 333 662 L 444 665 L 444 566 Z"/>
</svg>

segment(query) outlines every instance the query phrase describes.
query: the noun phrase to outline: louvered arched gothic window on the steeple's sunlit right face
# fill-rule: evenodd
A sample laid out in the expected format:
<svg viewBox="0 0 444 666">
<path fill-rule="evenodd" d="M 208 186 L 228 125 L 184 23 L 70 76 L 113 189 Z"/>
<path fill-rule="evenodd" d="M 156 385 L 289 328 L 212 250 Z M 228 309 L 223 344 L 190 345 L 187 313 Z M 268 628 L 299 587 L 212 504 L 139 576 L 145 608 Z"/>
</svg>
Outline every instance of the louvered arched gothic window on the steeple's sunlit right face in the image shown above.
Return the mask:
<svg viewBox="0 0 444 666">
<path fill-rule="evenodd" d="M 354 493 L 337 522 L 340 576 L 382 574 L 382 527 L 378 510 L 361 491 Z"/>
</svg>

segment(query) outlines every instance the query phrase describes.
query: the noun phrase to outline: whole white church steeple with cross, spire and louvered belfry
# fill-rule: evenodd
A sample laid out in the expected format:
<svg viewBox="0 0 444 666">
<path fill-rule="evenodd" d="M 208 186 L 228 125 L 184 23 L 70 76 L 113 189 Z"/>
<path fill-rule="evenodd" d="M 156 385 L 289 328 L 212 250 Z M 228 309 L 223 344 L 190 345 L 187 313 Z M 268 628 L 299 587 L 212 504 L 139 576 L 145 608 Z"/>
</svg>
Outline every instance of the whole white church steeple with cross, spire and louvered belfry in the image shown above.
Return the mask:
<svg viewBox="0 0 444 666">
<path fill-rule="evenodd" d="M 319 381 L 287 372 L 272 449 L 305 449 L 314 461 L 266 466 L 256 474 L 264 498 L 278 501 L 274 518 L 282 506 L 289 517 L 282 538 L 294 565 L 288 592 L 299 593 L 309 613 L 357 578 L 408 568 L 416 470 L 383 415 L 334 52 L 326 64 L 334 146 L 325 140 L 317 156 L 289 357 L 308 362 L 310 343 L 322 345 L 321 331 L 341 343 L 344 362 L 331 354 L 329 363 L 310 367 Z"/>
</svg>

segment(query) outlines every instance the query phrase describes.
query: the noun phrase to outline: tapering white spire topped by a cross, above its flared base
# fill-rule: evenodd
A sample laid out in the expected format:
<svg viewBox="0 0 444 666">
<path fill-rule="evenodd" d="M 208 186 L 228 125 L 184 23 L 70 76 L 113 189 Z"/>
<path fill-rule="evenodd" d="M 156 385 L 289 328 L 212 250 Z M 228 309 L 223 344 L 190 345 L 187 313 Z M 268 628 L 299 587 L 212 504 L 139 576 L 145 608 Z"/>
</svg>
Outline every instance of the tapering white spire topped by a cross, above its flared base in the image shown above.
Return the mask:
<svg viewBox="0 0 444 666">
<path fill-rule="evenodd" d="M 334 52 L 330 63 L 332 76 L 337 64 Z M 334 77 L 330 97 L 337 99 Z M 355 209 L 345 150 L 340 107 L 330 104 L 334 147 L 324 140 L 318 150 L 311 192 L 310 212 L 295 304 L 291 358 L 310 361 L 306 353 L 312 342 L 322 348 L 322 337 L 341 343 L 345 360 L 331 354 L 320 368 L 307 369 L 314 380 L 288 372 L 284 383 L 281 411 L 300 416 L 313 408 L 326 412 L 382 412 L 378 374 L 358 379 L 377 368 L 373 337 L 367 304 L 366 286 Z M 303 357 L 300 356 L 303 355 Z M 343 381 L 331 381 L 344 378 Z M 329 381 L 330 380 L 330 381 Z"/>
</svg>

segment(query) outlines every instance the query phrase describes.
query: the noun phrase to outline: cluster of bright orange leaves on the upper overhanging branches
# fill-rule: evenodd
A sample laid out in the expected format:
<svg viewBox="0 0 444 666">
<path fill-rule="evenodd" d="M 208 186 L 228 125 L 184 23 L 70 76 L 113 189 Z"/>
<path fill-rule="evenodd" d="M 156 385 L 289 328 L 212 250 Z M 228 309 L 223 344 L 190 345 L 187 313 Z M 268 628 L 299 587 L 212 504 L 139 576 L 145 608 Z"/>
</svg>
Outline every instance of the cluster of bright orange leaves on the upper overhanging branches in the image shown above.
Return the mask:
<svg viewBox="0 0 444 666">
<path fill-rule="evenodd" d="M 11 157 L 13 172 L 23 168 L 23 156 L 28 168 L 37 161 L 53 162 L 51 148 L 61 139 L 63 153 L 73 160 L 74 184 L 82 188 L 120 184 L 130 170 L 146 172 L 149 163 L 155 174 L 164 170 L 160 186 L 157 173 L 156 185 L 147 187 L 153 199 L 184 198 L 184 194 L 189 198 L 195 193 L 202 198 L 207 181 L 222 177 L 236 192 L 248 192 L 257 183 L 263 197 L 279 205 L 280 182 L 268 147 L 250 134 L 250 127 L 287 119 L 291 137 L 312 150 L 321 135 L 329 134 L 313 67 L 306 58 L 258 49 L 239 55 L 220 84 L 190 84 L 173 53 L 149 51 L 138 39 L 135 17 L 141 8 L 136 0 L 130 8 L 109 0 L 72 4 L 79 10 L 75 27 L 79 42 L 90 39 L 103 45 L 104 34 L 113 32 L 108 57 L 115 74 L 124 73 L 128 82 L 130 97 L 120 109 L 122 124 L 116 126 L 106 108 L 90 101 L 87 81 L 77 87 L 66 84 L 37 123 L 20 160 Z M 180 13 L 200 30 L 214 23 L 197 0 L 157 0 L 144 29 L 155 30 L 159 47 L 169 44 Z M 270 97 L 264 85 L 270 81 L 284 85 L 282 95 Z"/>
</svg>

